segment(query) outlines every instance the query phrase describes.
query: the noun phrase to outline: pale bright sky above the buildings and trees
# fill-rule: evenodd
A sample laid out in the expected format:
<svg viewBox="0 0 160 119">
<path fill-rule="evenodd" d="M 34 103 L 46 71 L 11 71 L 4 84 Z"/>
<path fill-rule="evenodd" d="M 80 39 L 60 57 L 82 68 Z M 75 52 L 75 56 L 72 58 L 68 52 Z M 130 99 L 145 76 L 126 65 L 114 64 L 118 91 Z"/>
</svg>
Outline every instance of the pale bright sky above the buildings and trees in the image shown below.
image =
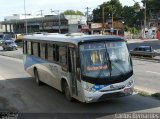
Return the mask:
<svg viewBox="0 0 160 119">
<path fill-rule="evenodd" d="M 25 2 L 24 2 L 25 1 Z M 40 15 L 40 10 L 43 10 L 44 15 L 51 14 L 52 10 L 79 10 L 86 11 L 86 7 L 91 8 L 89 11 L 97 8 L 103 2 L 109 0 L 1 0 L 0 7 L 0 21 L 4 20 L 5 16 L 12 16 L 13 14 L 24 14 L 24 6 L 26 13 L 32 15 Z M 135 0 L 140 2 L 141 0 Z M 132 6 L 133 0 L 120 0 L 122 5 Z M 25 3 L 25 4 L 24 4 Z"/>
</svg>

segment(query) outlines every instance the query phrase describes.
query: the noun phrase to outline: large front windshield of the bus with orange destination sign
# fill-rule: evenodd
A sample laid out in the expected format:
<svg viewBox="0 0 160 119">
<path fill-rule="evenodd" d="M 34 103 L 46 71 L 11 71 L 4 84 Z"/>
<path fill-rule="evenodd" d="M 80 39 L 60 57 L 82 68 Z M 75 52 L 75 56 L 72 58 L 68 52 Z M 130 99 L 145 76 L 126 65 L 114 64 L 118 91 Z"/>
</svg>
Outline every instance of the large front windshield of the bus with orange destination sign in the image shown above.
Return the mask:
<svg viewBox="0 0 160 119">
<path fill-rule="evenodd" d="M 132 71 L 130 55 L 124 41 L 84 43 L 79 48 L 83 76 L 105 78 Z"/>
</svg>

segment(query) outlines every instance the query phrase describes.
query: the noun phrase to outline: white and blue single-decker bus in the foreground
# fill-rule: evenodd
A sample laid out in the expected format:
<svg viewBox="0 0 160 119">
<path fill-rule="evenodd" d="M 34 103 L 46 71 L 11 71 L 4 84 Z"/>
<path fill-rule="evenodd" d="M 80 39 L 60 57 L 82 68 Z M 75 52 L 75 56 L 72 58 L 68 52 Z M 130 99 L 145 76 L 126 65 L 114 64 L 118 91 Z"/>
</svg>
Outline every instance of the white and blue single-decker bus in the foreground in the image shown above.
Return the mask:
<svg viewBox="0 0 160 119">
<path fill-rule="evenodd" d="M 127 42 L 113 35 L 26 35 L 24 69 L 67 100 L 90 103 L 132 95 L 133 65 Z"/>
</svg>

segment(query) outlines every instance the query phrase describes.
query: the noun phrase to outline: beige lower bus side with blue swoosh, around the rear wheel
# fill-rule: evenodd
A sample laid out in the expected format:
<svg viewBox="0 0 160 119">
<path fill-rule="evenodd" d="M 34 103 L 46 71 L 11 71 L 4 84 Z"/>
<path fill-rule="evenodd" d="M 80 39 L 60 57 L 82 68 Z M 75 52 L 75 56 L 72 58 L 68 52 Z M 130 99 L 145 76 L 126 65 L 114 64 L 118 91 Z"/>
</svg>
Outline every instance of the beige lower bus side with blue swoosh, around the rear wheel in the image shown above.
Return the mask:
<svg viewBox="0 0 160 119">
<path fill-rule="evenodd" d="M 36 68 L 42 82 L 57 88 L 57 72 L 54 71 L 53 63 L 32 56 L 25 56 L 24 68 L 32 77 L 34 77 L 34 69 Z"/>
</svg>

